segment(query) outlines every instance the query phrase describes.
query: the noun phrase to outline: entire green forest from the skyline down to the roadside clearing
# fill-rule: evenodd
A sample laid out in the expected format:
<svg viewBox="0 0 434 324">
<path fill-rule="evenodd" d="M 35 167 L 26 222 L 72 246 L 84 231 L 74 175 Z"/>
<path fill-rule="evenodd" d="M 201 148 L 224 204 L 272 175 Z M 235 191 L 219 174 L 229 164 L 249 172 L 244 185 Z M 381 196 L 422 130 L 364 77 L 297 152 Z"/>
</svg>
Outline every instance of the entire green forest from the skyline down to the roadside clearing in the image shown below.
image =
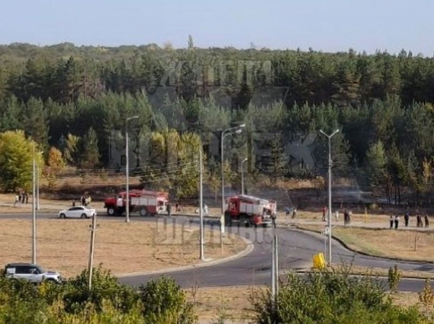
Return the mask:
<svg viewBox="0 0 434 324">
<path fill-rule="evenodd" d="M 168 156 L 171 148 L 165 144 L 173 142 L 164 134 L 199 134 L 208 171 L 216 175 L 220 151 L 212 149 L 219 146 L 212 140 L 220 140 L 222 129 L 245 123 L 243 133 L 232 136 L 231 148 L 225 149 L 228 175 L 243 156 L 249 158 L 250 175 L 309 177 L 326 170 L 325 138 L 310 148 L 315 167 L 301 174 L 293 170 L 297 161 L 288 143 L 339 128 L 332 141 L 335 173 L 357 177 L 365 187 L 387 194 L 389 202 L 401 203 L 404 192 L 416 205 L 429 204 L 431 58 L 405 52 L 175 50 L 156 45 L 12 44 L 0 49 L 0 132 L 24 130 L 41 146 L 45 160 L 54 146 L 70 165 L 107 167 L 111 144 L 125 142 L 126 118 L 138 116 L 128 126 L 134 149 L 145 138 L 148 147 Z M 256 159 L 258 133 L 269 134 L 267 144 L 260 144 L 271 151 L 265 167 Z M 144 161 L 144 176 L 171 170 L 171 162 L 156 159 L 155 152 Z M 153 162 L 157 160 L 161 163 Z M 218 187 L 216 176 L 214 180 Z"/>
</svg>

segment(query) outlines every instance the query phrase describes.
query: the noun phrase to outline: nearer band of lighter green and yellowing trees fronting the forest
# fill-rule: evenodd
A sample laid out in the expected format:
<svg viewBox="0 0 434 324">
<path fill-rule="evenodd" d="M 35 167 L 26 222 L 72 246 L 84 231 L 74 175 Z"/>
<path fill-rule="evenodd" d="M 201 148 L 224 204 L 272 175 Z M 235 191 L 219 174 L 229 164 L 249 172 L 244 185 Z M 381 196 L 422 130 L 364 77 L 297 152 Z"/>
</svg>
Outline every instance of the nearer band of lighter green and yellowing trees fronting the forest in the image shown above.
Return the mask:
<svg viewBox="0 0 434 324">
<path fill-rule="evenodd" d="M 188 159 L 179 152 L 185 145 L 196 147 L 200 140 L 209 171 L 217 174 L 220 152 L 210 149 L 212 139 L 218 145 L 219 130 L 245 123 L 243 133 L 231 137 L 232 145 L 225 152 L 228 168 L 236 170 L 244 156 L 249 158 L 249 171 L 258 171 L 255 141 L 261 134 L 267 134 L 271 138 L 271 165 L 260 171 L 277 179 L 294 176 L 292 153 L 286 150 L 288 140 L 297 134 L 316 133 L 320 129 L 332 132 L 339 128 L 341 132 L 332 141 L 335 173 L 357 177 L 379 193 L 387 193 L 389 200 L 396 203 L 401 202 L 401 189 L 410 189 L 411 200 L 419 204 L 429 203 L 428 192 L 432 189 L 433 114 L 431 104 L 404 105 L 398 96 L 348 107 L 333 104 L 286 107 L 275 102 L 260 107 L 248 105 L 243 110 L 221 107 L 212 97 L 189 102 L 167 98 L 154 107 L 142 92 L 80 96 L 75 103 L 65 104 L 33 97 L 22 103 L 10 96 L 0 103 L 0 132 L 23 129 L 41 146 L 45 156 L 49 147 L 55 146 L 70 165 L 101 168 L 109 163 L 111 141 L 125 142 L 126 118 L 137 115 L 137 119 L 129 122 L 130 139 L 137 147 L 149 148 L 149 160 L 141 162 L 147 165 L 143 170 L 146 175 L 153 174 L 155 178 L 172 171 L 175 162 L 179 168 L 197 159 L 198 151 Z M 181 141 L 187 138 L 187 133 L 197 134 L 200 139 Z M 323 173 L 327 143 L 322 136 L 315 143 L 316 172 Z M 156 169 L 162 172 L 155 173 Z M 314 176 L 315 169 L 309 172 L 306 174 Z"/>
</svg>

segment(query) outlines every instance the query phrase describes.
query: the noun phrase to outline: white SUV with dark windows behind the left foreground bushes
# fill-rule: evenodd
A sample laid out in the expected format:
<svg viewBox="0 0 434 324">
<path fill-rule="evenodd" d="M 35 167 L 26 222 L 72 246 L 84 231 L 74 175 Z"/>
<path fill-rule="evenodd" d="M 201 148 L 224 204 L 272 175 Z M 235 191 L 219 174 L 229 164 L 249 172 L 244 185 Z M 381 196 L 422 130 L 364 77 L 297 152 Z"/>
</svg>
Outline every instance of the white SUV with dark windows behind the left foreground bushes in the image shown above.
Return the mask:
<svg viewBox="0 0 434 324">
<path fill-rule="evenodd" d="M 42 281 L 61 282 L 60 273 L 44 271 L 40 266 L 30 263 L 10 263 L 5 267 L 7 278 L 25 279 L 38 284 Z"/>
</svg>

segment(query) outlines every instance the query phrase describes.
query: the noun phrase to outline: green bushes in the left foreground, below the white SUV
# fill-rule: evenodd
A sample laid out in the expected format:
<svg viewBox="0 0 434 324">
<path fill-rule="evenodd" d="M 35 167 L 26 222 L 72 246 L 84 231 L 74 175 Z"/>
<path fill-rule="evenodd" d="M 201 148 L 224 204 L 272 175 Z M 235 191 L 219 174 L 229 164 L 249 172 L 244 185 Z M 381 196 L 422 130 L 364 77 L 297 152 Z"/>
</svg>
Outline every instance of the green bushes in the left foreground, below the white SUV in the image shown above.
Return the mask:
<svg viewBox="0 0 434 324">
<path fill-rule="evenodd" d="M 161 278 L 139 291 L 120 285 L 110 271 L 94 269 L 92 290 L 88 272 L 64 284 L 35 286 L 0 277 L 0 323 L 194 323 L 197 316 L 182 289 Z"/>
</svg>

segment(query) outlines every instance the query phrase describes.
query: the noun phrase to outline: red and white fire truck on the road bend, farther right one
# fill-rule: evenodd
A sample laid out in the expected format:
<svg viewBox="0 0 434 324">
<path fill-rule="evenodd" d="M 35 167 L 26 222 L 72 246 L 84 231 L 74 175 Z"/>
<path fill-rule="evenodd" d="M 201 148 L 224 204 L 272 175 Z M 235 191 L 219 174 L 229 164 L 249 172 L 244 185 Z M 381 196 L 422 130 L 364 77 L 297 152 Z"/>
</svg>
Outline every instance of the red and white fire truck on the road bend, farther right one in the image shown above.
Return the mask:
<svg viewBox="0 0 434 324">
<path fill-rule="evenodd" d="M 246 226 L 262 225 L 267 227 L 277 215 L 275 201 L 266 200 L 246 194 L 239 194 L 227 198 L 225 224 L 232 225 L 232 221 L 245 221 Z"/>
</svg>

